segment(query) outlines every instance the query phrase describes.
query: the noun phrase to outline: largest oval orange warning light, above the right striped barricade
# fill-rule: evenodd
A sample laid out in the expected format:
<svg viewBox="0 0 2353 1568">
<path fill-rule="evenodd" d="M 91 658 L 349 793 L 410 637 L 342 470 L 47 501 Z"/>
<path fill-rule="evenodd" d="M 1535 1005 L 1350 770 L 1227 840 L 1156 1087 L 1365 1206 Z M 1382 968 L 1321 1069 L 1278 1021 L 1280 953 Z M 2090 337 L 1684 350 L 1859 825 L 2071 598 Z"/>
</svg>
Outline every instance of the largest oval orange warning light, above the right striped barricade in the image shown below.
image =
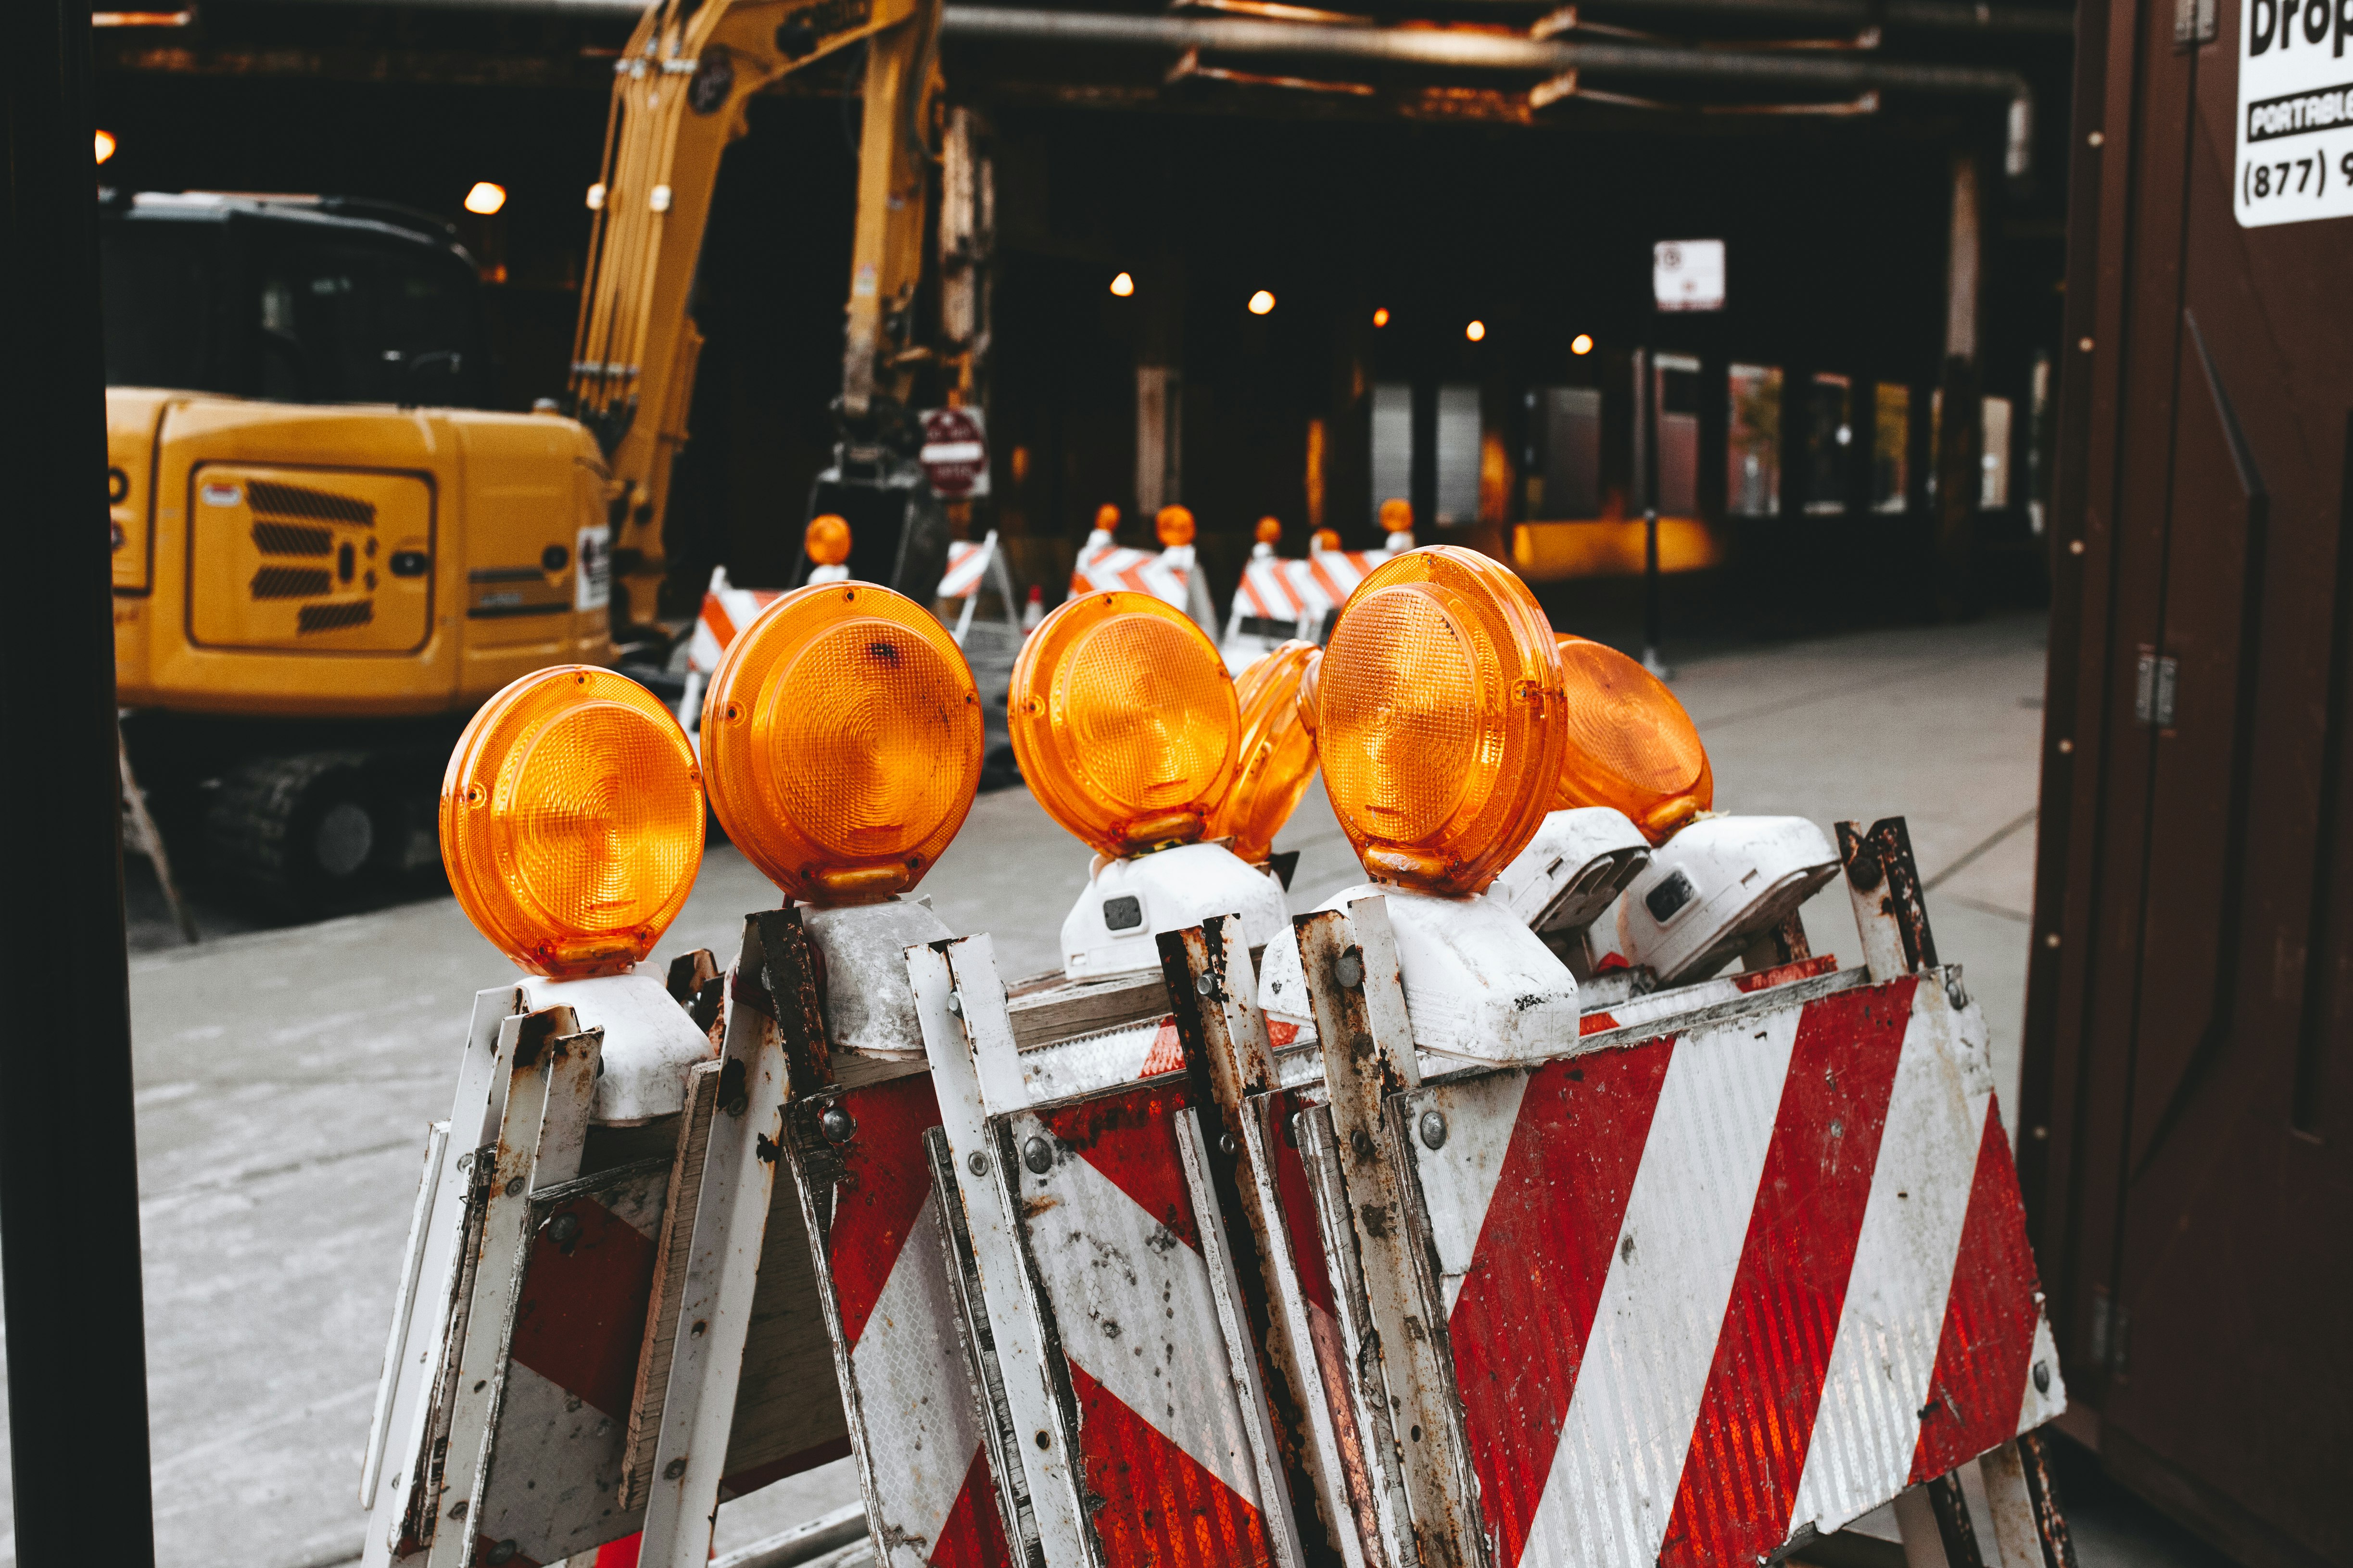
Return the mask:
<svg viewBox="0 0 2353 1568">
<path fill-rule="evenodd" d="M 1506 567 L 1459 545 L 1381 562 L 1315 675 L 1325 792 L 1379 882 L 1478 893 L 1560 776 L 1560 654 Z"/>
</svg>

